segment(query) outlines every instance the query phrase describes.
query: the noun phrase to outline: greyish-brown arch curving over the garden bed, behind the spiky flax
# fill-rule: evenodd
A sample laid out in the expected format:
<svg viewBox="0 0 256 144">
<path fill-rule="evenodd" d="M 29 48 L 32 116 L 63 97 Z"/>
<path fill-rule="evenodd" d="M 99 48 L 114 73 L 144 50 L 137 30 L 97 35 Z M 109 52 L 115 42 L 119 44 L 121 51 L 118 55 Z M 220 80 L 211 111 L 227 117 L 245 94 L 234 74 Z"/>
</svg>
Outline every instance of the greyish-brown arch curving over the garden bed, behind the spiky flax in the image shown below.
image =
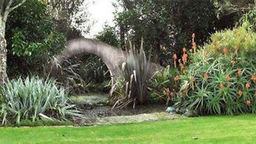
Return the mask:
<svg viewBox="0 0 256 144">
<path fill-rule="evenodd" d="M 60 56 L 57 56 L 56 60 L 52 61 L 52 72 L 56 72 L 56 63 L 60 64 L 65 60 L 65 58 L 70 58 L 72 56 L 76 56 L 77 54 L 83 53 L 95 54 L 96 56 L 99 56 L 109 68 L 113 82 L 116 77 L 120 77 L 122 75 L 122 63 L 127 60 L 127 52 L 103 42 L 87 38 L 70 40 L 67 43 L 67 49 L 65 49 Z M 159 69 L 163 69 L 163 67 L 150 63 L 149 73 L 152 76 L 156 70 Z"/>
</svg>

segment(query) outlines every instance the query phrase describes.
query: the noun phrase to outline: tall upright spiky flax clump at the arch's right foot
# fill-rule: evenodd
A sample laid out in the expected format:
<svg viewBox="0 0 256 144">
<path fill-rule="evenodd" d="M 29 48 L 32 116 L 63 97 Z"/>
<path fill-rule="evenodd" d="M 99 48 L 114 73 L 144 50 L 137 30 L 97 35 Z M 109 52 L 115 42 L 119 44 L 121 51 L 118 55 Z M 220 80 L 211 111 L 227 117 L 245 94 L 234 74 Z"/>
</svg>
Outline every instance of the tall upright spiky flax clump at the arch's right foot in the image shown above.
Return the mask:
<svg viewBox="0 0 256 144">
<path fill-rule="evenodd" d="M 141 40 L 140 51 L 130 44 L 127 53 L 127 61 L 122 65 L 122 76 L 116 79 L 111 90 L 114 107 L 124 108 L 129 104 L 146 104 L 149 101 L 147 87 L 150 77 L 150 57 L 147 60 L 143 50 L 143 40 Z M 151 67 L 152 68 L 152 67 Z"/>
</svg>

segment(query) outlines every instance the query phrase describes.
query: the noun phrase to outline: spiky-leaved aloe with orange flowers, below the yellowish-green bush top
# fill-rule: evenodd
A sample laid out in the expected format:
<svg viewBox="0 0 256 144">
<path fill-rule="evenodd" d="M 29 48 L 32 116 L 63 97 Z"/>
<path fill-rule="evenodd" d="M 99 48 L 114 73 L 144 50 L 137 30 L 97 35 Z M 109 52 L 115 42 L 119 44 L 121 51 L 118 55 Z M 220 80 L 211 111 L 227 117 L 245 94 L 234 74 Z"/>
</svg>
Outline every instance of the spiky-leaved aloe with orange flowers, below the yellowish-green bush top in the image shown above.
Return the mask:
<svg viewBox="0 0 256 144">
<path fill-rule="evenodd" d="M 175 108 L 196 115 L 255 113 L 254 58 L 225 52 L 214 56 L 211 52 L 200 49 L 191 55 L 191 63 L 179 79 Z"/>
</svg>

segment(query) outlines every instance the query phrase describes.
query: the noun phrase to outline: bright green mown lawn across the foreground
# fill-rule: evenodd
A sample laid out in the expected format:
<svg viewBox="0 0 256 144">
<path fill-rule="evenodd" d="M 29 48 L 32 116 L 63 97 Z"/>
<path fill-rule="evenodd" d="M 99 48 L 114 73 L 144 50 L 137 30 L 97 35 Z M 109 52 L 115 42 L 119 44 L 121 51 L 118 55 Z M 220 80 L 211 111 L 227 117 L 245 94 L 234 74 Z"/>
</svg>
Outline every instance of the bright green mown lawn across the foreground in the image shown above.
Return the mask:
<svg viewBox="0 0 256 144">
<path fill-rule="evenodd" d="M 195 138 L 198 138 L 195 140 Z M 1 128 L 0 143 L 255 143 L 256 115 L 95 127 Z"/>
</svg>

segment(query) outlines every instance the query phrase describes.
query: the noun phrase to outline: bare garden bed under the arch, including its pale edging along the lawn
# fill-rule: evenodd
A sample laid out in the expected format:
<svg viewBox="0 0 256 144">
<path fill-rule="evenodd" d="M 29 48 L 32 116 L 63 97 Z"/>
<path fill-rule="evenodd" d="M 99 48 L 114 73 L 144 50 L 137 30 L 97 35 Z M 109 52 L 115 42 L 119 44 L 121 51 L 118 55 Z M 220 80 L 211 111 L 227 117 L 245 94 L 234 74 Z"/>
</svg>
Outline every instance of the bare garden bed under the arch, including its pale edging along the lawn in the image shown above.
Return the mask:
<svg viewBox="0 0 256 144">
<path fill-rule="evenodd" d="M 127 124 L 185 117 L 166 113 L 165 104 L 148 104 L 136 106 L 135 109 L 112 109 L 106 93 L 89 93 L 70 99 L 83 111 L 84 118 L 76 122 L 78 125 Z"/>
</svg>

